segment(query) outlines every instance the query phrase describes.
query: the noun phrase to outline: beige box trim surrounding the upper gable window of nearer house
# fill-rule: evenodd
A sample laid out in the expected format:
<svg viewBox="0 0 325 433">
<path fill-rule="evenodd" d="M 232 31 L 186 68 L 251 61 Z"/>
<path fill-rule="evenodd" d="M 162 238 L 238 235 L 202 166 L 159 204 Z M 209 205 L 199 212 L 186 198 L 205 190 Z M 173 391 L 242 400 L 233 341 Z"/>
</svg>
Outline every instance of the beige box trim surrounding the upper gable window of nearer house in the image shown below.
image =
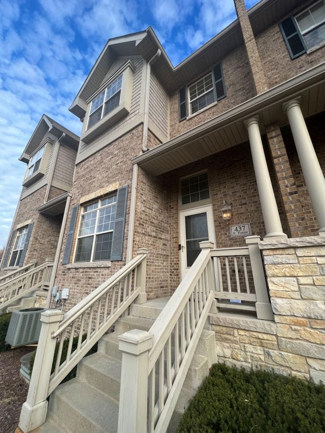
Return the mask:
<svg viewBox="0 0 325 433">
<path fill-rule="evenodd" d="M 103 85 L 93 95 L 90 96 L 90 98 L 87 100 L 88 106 L 81 134 L 81 141 L 84 143 L 89 143 L 114 123 L 117 123 L 130 113 L 134 71 L 135 67 L 132 62 L 127 61 L 122 68 L 116 71 L 114 76 L 110 77 L 108 81 L 103 83 Z M 120 75 L 122 75 L 122 85 L 120 90 L 121 93 L 119 105 L 110 111 L 106 116 L 102 117 L 101 120 L 94 123 L 92 126 L 90 126 L 90 128 L 87 129 L 92 101 L 99 96 L 103 90 L 109 87 L 109 85 L 112 84 Z M 103 106 L 105 107 L 105 103 Z"/>
</svg>

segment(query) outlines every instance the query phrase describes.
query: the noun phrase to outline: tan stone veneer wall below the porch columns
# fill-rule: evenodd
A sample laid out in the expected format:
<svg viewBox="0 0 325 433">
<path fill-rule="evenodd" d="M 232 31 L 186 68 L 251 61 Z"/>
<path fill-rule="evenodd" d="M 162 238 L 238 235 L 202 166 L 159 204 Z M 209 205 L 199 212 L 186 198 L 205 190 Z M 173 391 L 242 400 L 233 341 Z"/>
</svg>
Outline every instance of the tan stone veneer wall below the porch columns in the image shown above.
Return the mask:
<svg viewBox="0 0 325 433">
<path fill-rule="evenodd" d="M 325 382 L 325 237 L 260 243 L 273 321 L 210 318 L 218 362 Z"/>
</svg>

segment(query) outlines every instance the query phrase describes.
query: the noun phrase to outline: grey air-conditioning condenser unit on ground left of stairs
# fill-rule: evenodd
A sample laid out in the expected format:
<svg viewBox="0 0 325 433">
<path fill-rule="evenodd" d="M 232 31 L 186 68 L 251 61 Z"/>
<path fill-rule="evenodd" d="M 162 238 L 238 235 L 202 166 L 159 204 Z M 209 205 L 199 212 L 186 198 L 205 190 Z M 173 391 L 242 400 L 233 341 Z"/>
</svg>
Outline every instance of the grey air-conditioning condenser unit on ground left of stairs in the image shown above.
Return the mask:
<svg viewBox="0 0 325 433">
<path fill-rule="evenodd" d="M 7 335 L 6 343 L 12 347 L 25 346 L 37 343 L 41 332 L 41 313 L 45 308 L 27 308 L 13 311 Z"/>
</svg>

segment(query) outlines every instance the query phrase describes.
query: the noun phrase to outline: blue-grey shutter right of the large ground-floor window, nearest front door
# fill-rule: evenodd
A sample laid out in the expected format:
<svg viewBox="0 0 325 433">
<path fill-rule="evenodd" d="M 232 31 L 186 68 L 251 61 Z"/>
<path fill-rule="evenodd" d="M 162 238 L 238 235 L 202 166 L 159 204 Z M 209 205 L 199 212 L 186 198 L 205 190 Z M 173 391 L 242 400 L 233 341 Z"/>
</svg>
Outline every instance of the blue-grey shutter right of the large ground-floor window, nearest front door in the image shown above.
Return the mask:
<svg viewBox="0 0 325 433">
<path fill-rule="evenodd" d="M 116 217 L 115 217 L 112 254 L 111 254 L 112 261 L 122 260 L 124 226 L 125 226 L 125 215 L 126 215 L 126 199 L 127 199 L 127 186 L 123 186 L 122 188 L 119 188 L 117 191 Z"/>
</svg>

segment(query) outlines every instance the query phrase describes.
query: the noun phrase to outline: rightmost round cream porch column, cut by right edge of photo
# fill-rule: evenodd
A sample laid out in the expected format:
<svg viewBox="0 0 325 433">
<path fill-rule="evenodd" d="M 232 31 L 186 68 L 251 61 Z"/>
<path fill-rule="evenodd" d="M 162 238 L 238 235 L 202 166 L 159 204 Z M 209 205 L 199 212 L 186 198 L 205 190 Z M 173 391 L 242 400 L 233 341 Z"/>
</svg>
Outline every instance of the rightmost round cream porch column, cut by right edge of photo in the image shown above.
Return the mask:
<svg viewBox="0 0 325 433">
<path fill-rule="evenodd" d="M 284 105 L 300 160 L 306 186 L 314 208 L 319 234 L 325 234 L 325 179 L 321 171 L 304 116 L 300 98 Z"/>
</svg>

